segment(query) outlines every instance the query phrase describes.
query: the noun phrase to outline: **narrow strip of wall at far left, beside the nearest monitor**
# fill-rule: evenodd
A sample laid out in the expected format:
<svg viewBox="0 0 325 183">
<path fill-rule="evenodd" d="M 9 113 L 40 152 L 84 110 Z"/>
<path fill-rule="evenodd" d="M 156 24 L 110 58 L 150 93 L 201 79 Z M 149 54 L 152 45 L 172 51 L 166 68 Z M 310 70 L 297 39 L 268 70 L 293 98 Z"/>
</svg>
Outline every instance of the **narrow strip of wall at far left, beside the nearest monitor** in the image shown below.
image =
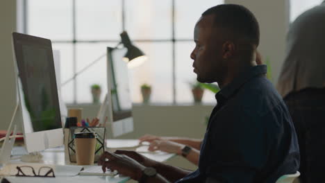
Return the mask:
<svg viewBox="0 0 325 183">
<path fill-rule="evenodd" d="M 11 33 L 16 29 L 16 1 L 0 1 L 0 130 L 8 128 L 15 108 Z"/>
</svg>

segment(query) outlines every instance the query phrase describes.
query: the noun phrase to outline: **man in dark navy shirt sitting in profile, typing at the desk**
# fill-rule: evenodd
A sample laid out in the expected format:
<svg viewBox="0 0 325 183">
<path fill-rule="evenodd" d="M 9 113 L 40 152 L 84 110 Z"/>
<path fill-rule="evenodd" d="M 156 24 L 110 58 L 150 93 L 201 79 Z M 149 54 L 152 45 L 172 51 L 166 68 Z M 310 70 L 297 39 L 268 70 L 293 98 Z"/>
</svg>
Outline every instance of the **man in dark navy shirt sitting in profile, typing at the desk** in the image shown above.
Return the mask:
<svg viewBox="0 0 325 183">
<path fill-rule="evenodd" d="M 194 28 L 190 57 L 200 82 L 218 82 L 201 144 L 199 168 L 190 172 L 133 151 L 104 153 L 99 164 L 139 182 L 267 182 L 296 173 L 299 148 L 290 114 L 255 62 L 258 22 L 243 6 L 203 12 Z M 183 130 L 186 130 L 183 129 Z"/>
</svg>

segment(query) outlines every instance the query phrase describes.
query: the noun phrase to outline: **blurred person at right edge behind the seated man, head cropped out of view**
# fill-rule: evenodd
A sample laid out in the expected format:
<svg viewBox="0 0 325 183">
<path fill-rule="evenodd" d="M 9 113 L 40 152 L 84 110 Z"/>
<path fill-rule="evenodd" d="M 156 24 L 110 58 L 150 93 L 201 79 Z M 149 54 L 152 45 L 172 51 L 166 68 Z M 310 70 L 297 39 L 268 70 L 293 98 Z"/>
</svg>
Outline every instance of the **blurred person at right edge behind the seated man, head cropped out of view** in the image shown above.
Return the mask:
<svg viewBox="0 0 325 183">
<path fill-rule="evenodd" d="M 290 25 L 277 89 L 297 131 L 301 182 L 325 182 L 325 1 Z"/>
</svg>

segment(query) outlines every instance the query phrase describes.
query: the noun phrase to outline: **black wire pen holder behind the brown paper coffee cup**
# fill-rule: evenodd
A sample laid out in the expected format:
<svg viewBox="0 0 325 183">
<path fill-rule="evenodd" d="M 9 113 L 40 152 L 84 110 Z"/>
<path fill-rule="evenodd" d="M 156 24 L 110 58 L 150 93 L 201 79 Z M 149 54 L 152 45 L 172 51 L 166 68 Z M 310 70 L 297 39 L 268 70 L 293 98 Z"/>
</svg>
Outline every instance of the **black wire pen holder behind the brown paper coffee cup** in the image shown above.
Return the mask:
<svg viewBox="0 0 325 183">
<path fill-rule="evenodd" d="M 99 157 L 105 151 L 105 128 L 104 127 L 72 127 L 69 128 L 69 134 L 67 144 L 65 147 L 68 149 L 66 153 L 69 154 L 69 161 L 76 163 L 76 147 L 74 146 L 74 133 L 77 132 L 96 132 L 97 143 L 95 147 L 94 163 L 97 163 Z"/>
</svg>

